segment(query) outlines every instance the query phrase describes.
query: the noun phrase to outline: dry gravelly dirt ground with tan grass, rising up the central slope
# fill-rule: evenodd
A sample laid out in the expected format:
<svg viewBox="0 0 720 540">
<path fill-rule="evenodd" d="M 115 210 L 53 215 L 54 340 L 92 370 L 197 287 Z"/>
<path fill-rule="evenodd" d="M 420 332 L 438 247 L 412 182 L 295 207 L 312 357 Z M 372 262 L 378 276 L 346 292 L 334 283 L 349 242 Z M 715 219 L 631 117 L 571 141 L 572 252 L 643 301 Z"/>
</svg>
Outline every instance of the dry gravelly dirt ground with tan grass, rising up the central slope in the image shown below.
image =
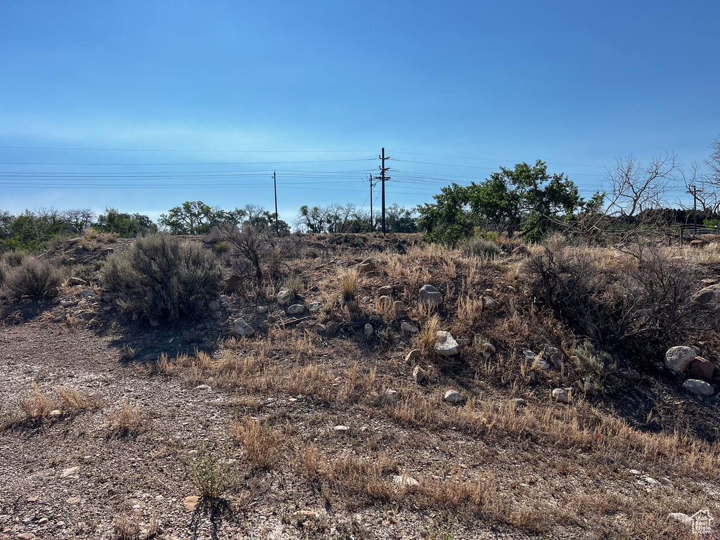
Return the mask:
<svg viewBox="0 0 720 540">
<path fill-rule="evenodd" d="M 572 369 L 531 369 L 522 351 L 572 336 L 530 307 L 514 258 L 346 236 L 305 238 L 312 253 L 289 263 L 295 302 L 323 305 L 301 315 L 305 328 L 272 299 L 258 313 L 265 300 L 247 294 L 218 318 L 157 327 L 102 300 L 97 283 L 6 305 L 0 539 L 670 539 L 693 536 L 668 513 L 720 516 L 715 397 L 683 394 L 649 365 L 638 381 L 618 376 L 606 401 L 554 402 Z M 367 256 L 377 268 L 351 324 L 338 274 Z M 460 355 L 401 330 L 428 325 L 422 282 L 444 293 L 443 328 L 472 340 Z M 384 310 L 387 284 L 406 313 Z M 468 292 L 499 307 L 468 323 L 456 307 Z M 96 322 L 69 318 L 61 300 Z M 233 336 L 238 317 L 255 336 Z M 479 341 L 497 351 L 486 358 Z M 444 401 L 451 389 L 461 405 Z M 32 418 L 33 405 L 47 410 Z M 197 498 L 204 463 L 225 471 L 218 498 Z"/>
</svg>

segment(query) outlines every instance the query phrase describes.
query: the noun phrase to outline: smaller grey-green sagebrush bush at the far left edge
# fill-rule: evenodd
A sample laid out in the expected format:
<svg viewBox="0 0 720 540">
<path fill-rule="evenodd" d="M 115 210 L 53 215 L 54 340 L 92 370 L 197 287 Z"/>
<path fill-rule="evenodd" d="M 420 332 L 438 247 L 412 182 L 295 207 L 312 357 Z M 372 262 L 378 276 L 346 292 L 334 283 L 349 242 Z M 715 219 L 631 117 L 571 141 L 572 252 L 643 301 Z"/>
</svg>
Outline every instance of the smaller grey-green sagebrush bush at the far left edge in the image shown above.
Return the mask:
<svg viewBox="0 0 720 540">
<path fill-rule="evenodd" d="M 32 256 L 24 257 L 20 266 L 6 267 L 4 274 L 2 293 L 9 298 L 56 296 L 65 279 L 62 269 Z"/>
</svg>

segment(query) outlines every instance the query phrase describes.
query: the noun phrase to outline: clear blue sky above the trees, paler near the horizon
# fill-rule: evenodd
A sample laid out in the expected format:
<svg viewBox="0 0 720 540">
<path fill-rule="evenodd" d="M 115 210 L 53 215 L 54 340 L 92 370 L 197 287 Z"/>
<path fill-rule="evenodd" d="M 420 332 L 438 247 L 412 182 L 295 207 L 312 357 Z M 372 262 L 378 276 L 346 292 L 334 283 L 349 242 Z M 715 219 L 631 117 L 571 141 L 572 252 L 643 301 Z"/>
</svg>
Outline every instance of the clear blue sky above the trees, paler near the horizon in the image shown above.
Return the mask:
<svg viewBox="0 0 720 540">
<path fill-rule="evenodd" d="M 536 159 L 589 196 L 629 153 L 708 157 L 719 20 L 715 1 L 3 1 L 0 209 L 270 209 L 277 170 L 292 222 L 369 207 L 383 146 L 388 204 Z"/>
</svg>

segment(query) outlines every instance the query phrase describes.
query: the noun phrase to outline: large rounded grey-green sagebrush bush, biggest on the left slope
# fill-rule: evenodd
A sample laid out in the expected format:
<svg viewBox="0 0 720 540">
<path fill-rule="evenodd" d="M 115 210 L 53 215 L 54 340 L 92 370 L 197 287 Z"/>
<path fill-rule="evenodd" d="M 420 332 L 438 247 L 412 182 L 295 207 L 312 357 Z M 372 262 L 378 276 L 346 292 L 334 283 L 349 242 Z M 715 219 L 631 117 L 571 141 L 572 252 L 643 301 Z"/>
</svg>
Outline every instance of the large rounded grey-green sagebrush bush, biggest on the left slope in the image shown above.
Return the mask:
<svg viewBox="0 0 720 540">
<path fill-rule="evenodd" d="M 215 300 L 222 271 L 215 255 L 202 246 L 155 234 L 109 256 L 101 276 L 117 293 L 118 305 L 135 317 L 176 320 L 199 314 Z"/>
</svg>

